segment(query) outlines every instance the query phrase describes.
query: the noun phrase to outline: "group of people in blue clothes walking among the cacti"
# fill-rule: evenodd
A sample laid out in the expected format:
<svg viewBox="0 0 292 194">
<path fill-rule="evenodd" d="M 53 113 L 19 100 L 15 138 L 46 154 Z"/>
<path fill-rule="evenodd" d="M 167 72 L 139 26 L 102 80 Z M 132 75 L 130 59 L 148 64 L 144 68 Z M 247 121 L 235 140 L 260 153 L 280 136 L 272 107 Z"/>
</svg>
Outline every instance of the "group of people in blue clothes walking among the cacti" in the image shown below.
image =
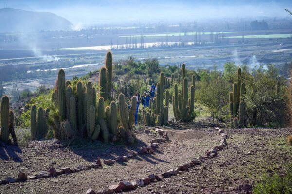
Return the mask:
<svg viewBox="0 0 292 194">
<path fill-rule="evenodd" d="M 137 108 L 136 108 L 136 113 L 135 113 L 135 124 L 138 123 L 138 111 L 139 111 L 139 106 L 140 106 L 140 100 L 142 103 L 142 106 L 144 107 L 149 107 L 150 104 L 150 99 L 155 96 L 155 85 L 152 83 L 150 91 L 144 91 L 142 98 L 139 92 L 134 93 L 133 97 L 137 98 Z"/>
</svg>

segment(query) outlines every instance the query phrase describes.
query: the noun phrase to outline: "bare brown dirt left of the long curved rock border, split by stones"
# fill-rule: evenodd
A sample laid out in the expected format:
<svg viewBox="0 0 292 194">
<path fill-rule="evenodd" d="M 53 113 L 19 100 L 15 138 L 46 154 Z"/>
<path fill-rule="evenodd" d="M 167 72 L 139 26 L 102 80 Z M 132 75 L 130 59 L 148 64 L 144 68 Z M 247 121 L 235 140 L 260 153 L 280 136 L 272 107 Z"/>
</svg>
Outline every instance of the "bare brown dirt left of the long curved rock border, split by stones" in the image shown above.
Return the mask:
<svg viewBox="0 0 292 194">
<path fill-rule="evenodd" d="M 190 126 L 187 130 L 164 129 L 164 131 L 168 133 L 171 142 L 161 144 L 155 155 L 138 155 L 128 162 L 118 162 L 112 166 L 103 165 L 102 169 L 2 185 L 0 193 L 83 194 L 88 188 L 98 191 L 122 180 L 133 181 L 174 168 L 203 155 L 207 149 L 218 145 L 220 141 L 217 130 L 211 128 L 194 129 Z M 141 131 L 136 135 L 139 142 L 132 146 L 104 145 L 97 142 L 76 148 L 65 147 L 56 140 L 35 141 L 21 150 L 7 146 L 0 150 L 0 178 L 17 176 L 19 170 L 30 176 L 47 170 L 50 166 L 59 169 L 90 164 L 97 158 L 114 159 L 128 150 L 149 145 L 149 141 L 156 138 L 151 133 L 145 134 Z"/>
</svg>

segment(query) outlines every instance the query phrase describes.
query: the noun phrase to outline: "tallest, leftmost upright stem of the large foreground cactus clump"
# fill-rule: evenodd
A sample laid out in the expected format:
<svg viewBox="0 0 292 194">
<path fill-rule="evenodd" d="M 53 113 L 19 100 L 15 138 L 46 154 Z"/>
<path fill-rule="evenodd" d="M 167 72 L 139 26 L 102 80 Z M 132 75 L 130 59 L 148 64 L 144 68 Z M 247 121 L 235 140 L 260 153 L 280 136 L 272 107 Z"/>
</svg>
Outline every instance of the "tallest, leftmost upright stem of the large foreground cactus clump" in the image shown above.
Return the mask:
<svg viewBox="0 0 292 194">
<path fill-rule="evenodd" d="M 65 71 L 59 70 L 58 73 L 58 105 L 60 121 L 66 120 L 66 85 L 65 85 Z"/>
</svg>

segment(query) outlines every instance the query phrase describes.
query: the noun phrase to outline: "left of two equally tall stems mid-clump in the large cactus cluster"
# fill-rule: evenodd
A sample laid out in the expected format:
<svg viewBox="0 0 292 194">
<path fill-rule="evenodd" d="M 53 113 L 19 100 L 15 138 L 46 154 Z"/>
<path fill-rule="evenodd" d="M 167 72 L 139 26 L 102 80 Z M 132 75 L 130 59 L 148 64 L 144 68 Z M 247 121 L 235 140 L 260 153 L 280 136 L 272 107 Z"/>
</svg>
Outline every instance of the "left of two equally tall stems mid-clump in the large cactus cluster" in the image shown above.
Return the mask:
<svg viewBox="0 0 292 194">
<path fill-rule="evenodd" d="M 77 114 L 78 114 L 78 129 L 81 130 L 84 128 L 84 115 L 85 115 L 85 107 L 84 107 L 84 91 L 83 91 L 83 84 L 81 81 L 78 81 L 76 86 L 77 91 Z"/>
</svg>

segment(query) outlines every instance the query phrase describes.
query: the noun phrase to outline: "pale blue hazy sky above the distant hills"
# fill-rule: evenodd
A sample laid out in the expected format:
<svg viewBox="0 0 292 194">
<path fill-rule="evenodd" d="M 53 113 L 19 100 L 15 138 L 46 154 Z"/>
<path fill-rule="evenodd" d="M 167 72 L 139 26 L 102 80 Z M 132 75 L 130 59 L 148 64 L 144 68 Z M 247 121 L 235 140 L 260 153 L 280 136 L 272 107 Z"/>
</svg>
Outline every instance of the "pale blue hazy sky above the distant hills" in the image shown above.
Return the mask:
<svg viewBox="0 0 292 194">
<path fill-rule="evenodd" d="M 74 25 L 291 18 L 284 9 L 292 10 L 292 0 L 6 0 L 6 5 L 53 12 Z"/>
</svg>

